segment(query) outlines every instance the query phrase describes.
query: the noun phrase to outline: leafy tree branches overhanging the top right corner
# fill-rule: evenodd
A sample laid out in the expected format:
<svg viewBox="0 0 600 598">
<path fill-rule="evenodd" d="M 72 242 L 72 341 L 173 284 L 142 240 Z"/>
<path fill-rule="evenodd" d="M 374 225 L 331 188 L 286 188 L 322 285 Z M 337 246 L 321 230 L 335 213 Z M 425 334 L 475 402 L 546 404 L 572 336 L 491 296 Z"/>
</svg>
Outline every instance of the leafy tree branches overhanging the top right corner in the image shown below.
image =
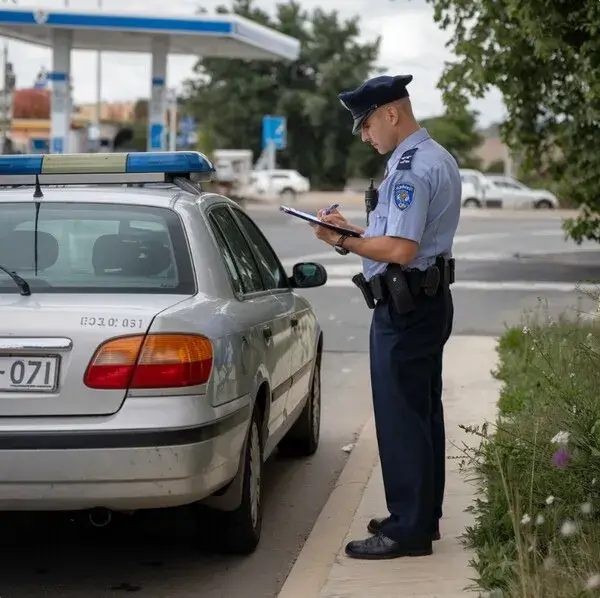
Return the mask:
<svg viewBox="0 0 600 598">
<path fill-rule="evenodd" d="M 457 60 L 439 86 L 450 109 L 497 87 L 505 142 L 582 207 L 565 230 L 600 241 L 600 2 L 427 0 Z"/>
</svg>

